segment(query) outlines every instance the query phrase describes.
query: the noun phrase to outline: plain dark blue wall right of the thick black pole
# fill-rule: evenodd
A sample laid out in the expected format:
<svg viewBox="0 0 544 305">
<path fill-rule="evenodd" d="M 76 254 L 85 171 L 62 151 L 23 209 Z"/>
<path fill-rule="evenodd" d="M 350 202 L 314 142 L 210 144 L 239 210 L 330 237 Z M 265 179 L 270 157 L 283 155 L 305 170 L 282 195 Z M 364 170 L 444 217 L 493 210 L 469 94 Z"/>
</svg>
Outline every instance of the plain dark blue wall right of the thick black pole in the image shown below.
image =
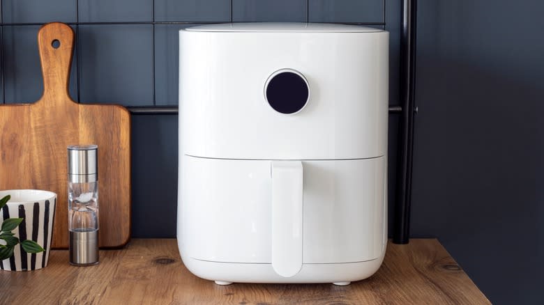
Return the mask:
<svg viewBox="0 0 544 305">
<path fill-rule="evenodd" d="M 544 2 L 418 1 L 411 232 L 544 304 Z"/>
</svg>

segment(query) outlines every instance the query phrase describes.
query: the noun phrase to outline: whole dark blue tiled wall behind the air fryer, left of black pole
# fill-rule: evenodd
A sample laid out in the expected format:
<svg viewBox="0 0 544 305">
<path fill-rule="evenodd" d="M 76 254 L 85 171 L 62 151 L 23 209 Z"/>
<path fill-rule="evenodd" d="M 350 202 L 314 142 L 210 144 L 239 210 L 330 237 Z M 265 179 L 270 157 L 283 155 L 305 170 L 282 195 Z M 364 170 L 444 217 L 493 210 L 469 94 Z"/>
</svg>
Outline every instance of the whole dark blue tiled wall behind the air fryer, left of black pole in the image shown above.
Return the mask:
<svg viewBox="0 0 544 305">
<path fill-rule="evenodd" d="M 153 107 L 178 104 L 179 29 L 203 22 L 310 20 L 370 24 L 390 31 L 390 103 L 398 104 L 399 1 L 0 0 L 0 6 L 4 77 L 0 102 L 33 102 L 40 97 L 36 34 L 45 22 L 72 23 L 77 33 L 79 52 L 74 54 L 70 77 L 73 100 Z M 176 234 L 177 118 L 133 115 L 134 237 Z M 390 116 L 389 128 L 393 203 L 397 115 Z"/>
</svg>

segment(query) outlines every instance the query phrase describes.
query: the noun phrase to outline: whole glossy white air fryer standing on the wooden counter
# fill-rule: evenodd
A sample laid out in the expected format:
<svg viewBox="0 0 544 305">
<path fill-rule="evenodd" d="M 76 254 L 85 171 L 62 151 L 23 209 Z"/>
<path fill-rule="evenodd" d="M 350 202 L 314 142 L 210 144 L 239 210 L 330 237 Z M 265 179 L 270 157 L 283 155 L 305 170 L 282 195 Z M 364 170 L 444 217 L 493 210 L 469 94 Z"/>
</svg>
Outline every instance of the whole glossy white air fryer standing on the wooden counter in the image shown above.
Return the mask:
<svg viewBox="0 0 544 305">
<path fill-rule="evenodd" d="M 213 24 L 179 33 L 177 236 L 227 285 L 374 274 L 387 241 L 388 33 Z"/>
</svg>

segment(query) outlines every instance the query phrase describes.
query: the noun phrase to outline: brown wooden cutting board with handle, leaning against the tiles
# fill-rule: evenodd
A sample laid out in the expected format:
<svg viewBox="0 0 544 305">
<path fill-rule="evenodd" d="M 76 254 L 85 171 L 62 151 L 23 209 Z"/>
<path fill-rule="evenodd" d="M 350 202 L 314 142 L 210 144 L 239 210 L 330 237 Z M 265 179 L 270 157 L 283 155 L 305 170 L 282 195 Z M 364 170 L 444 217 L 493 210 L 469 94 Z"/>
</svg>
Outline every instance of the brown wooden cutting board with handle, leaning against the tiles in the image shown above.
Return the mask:
<svg viewBox="0 0 544 305">
<path fill-rule="evenodd" d="M 130 238 L 130 114 L 119 105 L 70 98 L 73 41 L 66 24 L 42 26 L 42 97 L 33 104 L 0 105 L 0 189 L 54 191 L 52 247 L 68 248 L 66 148 L 97 144 L 100 247 L 122 247 Z"/>
</svg>

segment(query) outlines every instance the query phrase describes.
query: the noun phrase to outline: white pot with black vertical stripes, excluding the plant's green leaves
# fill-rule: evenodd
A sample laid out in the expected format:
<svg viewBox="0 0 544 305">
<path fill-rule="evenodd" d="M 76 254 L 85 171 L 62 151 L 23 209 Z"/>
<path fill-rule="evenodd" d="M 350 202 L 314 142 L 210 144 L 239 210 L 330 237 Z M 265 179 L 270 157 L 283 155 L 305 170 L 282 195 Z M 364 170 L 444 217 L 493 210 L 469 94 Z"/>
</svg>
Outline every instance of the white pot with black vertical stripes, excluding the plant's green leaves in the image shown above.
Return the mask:
<svg viewBox="0 0 544 305">
<path fill-rule="evenodd" d="M 0 198 L 10 195 L 10 201 L 0 210 L 0 224 L 4 219 L 23 218 L 12 232 L 19 240 L 33 240 L 45 249 L 41 253 L 27 253 L 21 245 L 15 246 L 13 256 L 0 261 L 0 269 L 27 271 L 47 266 L 53 235 L 56 194 L 38 189 L 0 191 Z M 3 240 L 0 240 L 3 242 Z"/>
</svg>

